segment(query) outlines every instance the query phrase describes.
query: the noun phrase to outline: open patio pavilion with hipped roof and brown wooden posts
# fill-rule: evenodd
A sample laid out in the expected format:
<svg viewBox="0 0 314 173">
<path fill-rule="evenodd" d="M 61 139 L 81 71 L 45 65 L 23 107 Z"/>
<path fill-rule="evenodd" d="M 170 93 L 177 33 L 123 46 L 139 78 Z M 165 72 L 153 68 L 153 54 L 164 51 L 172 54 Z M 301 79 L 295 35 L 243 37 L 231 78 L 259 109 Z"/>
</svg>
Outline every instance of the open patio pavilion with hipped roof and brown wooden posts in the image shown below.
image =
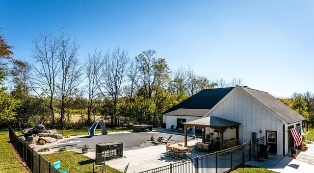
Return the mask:
<svg viewBox="0 0 314 173">
<path fill-rule="evenodd" d="M 186 145 L 187 143 L 187 130 L 186 128 L 191 127 L 191 126 L 198 126 L 198 127 L 203 127 L 202 130 L 202 142 L 205 142 L 205 127 L 210 127 L 214 128 L 220 133 L 220 149 L 223 149 L 223 142 L 224 142 L 224 131 L 227 128 L 235 128 L 236 129 L 236 139 L 239 139 L 239 125 L 240 123 L 233 122 L 230 120 L 222 119 L 219 117 L 204 117 L 198 120 L 190 121 L 190 122 L 185 122 L 184 124 L 184 144 Z"/>
</svg>

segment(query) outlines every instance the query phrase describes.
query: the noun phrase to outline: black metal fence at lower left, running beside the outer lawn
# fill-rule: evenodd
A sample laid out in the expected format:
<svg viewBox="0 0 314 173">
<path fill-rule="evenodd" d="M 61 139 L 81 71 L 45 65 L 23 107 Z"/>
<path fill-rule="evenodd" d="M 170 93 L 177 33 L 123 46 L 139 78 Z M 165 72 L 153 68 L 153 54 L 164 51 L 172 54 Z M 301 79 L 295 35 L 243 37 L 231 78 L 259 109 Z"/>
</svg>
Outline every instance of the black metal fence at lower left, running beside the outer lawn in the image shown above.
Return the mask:
<svg viewBox="0 0 314 173">
<path fill-rule="evenodd" d="M 9 127 L 9 138 L 31 173 L 58 173 L 50 162 L 21 140 L 11 127 Z"/>
</svg>

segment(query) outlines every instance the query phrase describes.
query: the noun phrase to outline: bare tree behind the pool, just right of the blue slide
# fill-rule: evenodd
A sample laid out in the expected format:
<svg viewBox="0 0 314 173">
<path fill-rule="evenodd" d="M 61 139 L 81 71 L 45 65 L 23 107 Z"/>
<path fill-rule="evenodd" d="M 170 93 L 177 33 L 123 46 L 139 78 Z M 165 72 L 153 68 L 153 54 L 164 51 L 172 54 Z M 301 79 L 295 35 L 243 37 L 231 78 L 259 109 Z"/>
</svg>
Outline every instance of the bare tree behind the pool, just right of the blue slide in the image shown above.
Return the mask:
<svg viewBox="0 0 314 173">
<path fill-rule="evenodd" d="M 100 88 L 104 96 L 113 99 L 113 115 L 111 125 L 117 124 L 117 104 L 121 94 L 122 84 L 127 80 L 129 72 L 129 51 L 127 49 L 114 49 L 105 54 L 103 74 L 101 76 Z"/>
</svg>

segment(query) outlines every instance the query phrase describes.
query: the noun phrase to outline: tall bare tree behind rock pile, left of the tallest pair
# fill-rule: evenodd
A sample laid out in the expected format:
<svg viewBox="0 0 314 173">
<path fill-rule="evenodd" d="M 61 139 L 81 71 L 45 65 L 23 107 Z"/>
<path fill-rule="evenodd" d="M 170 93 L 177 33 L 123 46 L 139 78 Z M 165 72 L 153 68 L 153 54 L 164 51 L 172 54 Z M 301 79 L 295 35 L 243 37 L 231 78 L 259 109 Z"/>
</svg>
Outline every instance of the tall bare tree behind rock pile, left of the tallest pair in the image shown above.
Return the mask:
<svg viewBox="0 0 314 173">
<path fill-rule="evenodd" d="M 45 105 L 51 110 L 52 124 L 54 124 L 53 98 L 55 96 L 56 77 L 60 68 L 58 58 L 59 41 L 52 33 L 41 33 L 39 38 L 33 41 L 35 47 L 32 49 L 33 59 L 32 74 L 29 75 L 30 86 L 35 93 L 44 100 L 49 98 Z M 43 94 L 43 95 L 42 95 Z"/>
</svg>

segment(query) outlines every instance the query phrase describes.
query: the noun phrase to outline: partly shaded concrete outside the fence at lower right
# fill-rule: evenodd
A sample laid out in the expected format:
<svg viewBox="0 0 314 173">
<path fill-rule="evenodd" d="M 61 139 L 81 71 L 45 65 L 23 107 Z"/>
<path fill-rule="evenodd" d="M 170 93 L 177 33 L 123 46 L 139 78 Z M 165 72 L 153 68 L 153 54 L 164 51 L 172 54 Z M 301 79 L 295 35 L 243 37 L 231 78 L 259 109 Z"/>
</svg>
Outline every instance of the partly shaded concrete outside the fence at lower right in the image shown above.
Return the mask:
<svg viewBox="0 0 314 173">
<path fill-rule="evenodd" d="M 298 150 L 297 157 L 292 158 L 290 154 L 286 156 L 268 155 L 268 159 L 263 162 L 249 161 L 246 165 L 266 168 L 278 173 L 305 173 L 314 170 L 314 144 L 307 144 L 308 150 Z"/>
</svg>

